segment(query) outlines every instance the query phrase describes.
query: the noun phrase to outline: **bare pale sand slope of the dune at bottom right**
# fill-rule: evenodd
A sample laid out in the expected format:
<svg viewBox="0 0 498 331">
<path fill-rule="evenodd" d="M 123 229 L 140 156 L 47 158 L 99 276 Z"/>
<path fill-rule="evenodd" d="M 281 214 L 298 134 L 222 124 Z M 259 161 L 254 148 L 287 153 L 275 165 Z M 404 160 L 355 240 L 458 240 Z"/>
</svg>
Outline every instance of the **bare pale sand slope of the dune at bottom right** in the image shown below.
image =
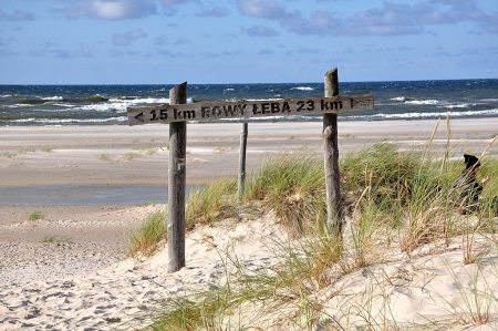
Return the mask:
<svg viewBox="0 0 498 331">
<path fill-rule="evenodd" d="M 365 325 L 435 329 L 432 322 L 438 323 L 438 330 L 497 330 L 497 239 L 476 238 L 476 245 L 490 248 L 476 263 L 463 263 L 463 242 L 455 238 L 448 247 L 440 245 L 438 252 L 430 252 L 436 246 L 428 245 L 412 258 L 400 256 L 362 268 L 326 289 L 325 314 L 336 319 L 333 325 L 346 330 Z M 333 298 L 326 299 L 330 293 Z M 478 313 L 490 321 L 478 325 Z"/>
</svg>

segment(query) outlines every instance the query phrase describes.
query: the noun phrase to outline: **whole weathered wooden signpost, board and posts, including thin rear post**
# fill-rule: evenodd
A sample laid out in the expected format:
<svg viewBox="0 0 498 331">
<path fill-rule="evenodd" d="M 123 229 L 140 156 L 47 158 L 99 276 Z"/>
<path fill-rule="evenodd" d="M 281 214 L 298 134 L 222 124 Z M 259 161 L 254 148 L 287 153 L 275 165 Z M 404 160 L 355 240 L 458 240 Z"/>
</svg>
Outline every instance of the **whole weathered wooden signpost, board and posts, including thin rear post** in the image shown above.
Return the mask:
<svg viewBox="0 0 498 331">
<path fill-rule="evenodd" d="M 169 123 L 168 166 L 168 271 L 185 267 L 185 177 L 188 122 L 217 122 L 221 118 L 241 121 L 263 116 L 323 115 L 324 166 L 326 189 L 326 224 L 331 231 L 342 234 L 341 192 L 339 177 L 338 114 L 373 110 L 374 97 L 366 94 L 339 94 L 338 70 L 325 74 L 323 97 L 282 99 L 278 101 L 201 102 L 186 104 L 187 83 L 169 91 L 170 104 L 128 107 L 129 125 Z M 242 125 L 239 155 L 239 197 L 246 177 L 247 123 Z"/>
</svg>

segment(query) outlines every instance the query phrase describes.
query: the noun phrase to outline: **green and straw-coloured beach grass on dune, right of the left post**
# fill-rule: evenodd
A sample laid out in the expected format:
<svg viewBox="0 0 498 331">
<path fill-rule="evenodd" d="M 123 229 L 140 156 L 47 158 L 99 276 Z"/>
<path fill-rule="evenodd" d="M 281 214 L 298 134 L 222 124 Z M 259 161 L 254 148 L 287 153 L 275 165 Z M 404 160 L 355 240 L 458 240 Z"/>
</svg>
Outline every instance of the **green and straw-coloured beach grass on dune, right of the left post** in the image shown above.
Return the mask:
<svg viewBox="0 0 498 331">
<path fill-rule="evenodd" d="M 385 250 L 395 246 L 411 256 L 424 245 L 449 242 L 455 236 L 461 236 L 463 265 L 478 263 L 487 254 L 486 248 L 476 245 L 475 238 L 479 234 L 497 232 L 496 214 L 491 210 L 498 192 L 497 161 L 483 158 L 480 176 L 492 179 L 483 192 L 481 208 L 470 217 L 455 210 L 460 193 L 454 183 L 464 167 L 463 162 L 452 161 L 447 152 L 443 156 L 433 155 L 429 144 L 421 154 L 377 144 L 346 155 L 340 166 L 349 225 L 343 237 L 331 236 L 324 227 L 322 161 L 305 155 L 269 159 L 248 180 L 239 204 L 271 210 L 294 239 L 276 242 L 278 262 L 257 271 L 246 268 L 237 257 L 220 252 L 236 271 L 227 271 L 221 286 L 168 300 L 152 329 L 243 328 L 247 309 L 256 311 L 257 320 L 280 313 L 294 328 L 310 329 L 324 313 L 318 292 L 347 273 L 386 261 Z M 222 219 L 226 210 L 237 213 L 235 186 L 235 180 L 224 180 L 191 195 L 187 213 L 189 228 L 196 223 Z M 331 293 L 331 298 L 335 294 L 339 293 Z M 374 317 L 369 310 L 373 291 L 370 299 L 365 296 L 364 304 L 356 307 L 365 328 L 396 327 L 390 319 L 388 304 L 382 318 Z M 476 291 L 465 300 L 474 304 L 465 321 L 471 324 L 489 321 L 489 307 L 495 303 L 480 298 Z M 435 324 L 440 325 L 439 322 Z M 331 324 L 332 330 L 341 329 L 334 321 Z"/>
</svg>

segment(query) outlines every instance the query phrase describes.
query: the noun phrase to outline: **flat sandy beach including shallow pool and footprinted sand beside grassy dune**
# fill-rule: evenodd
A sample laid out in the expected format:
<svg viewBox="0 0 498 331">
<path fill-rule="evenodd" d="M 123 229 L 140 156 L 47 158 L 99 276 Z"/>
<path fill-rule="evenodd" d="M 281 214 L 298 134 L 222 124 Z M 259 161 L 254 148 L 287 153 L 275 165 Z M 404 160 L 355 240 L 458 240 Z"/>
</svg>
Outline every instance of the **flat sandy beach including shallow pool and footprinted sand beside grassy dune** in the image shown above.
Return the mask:
<svg viewBox="0 0 498 331">
<path fill-rule="evenodd" d="M 340 122 L 340 153 L 380 142 L 419 152 L 436 123 Z M 188 125 L 189 187 L 237 175 L 240 126 Z M 498 157 L 498 145 L 489 146 L 497 134 L 498 118 L 453 121 L 452 157 L 484 151 Z M 437 155 L 447 142 L 446 122 L 440 121 L 432 149 Z M 144 327 L 167 296 L 219 281 L 218 250 L 234 241 L 246 262 L 264 267 L 271 259 L 268 238 L 279 230 L 261 220 L 197 229 L 188 238 L 188 268 L 176 275 L 165 271 L 165 251 L 143 262 L 125 259 L 127 234 L 164 207 L 167 144 L 167 125 L 0 128 L 1 330 Z M 321 157 L 321 123 L 251 123 L 249 173 L 278 153 Z M 29 220 L 33 211 L 42 217 Z M 225 232 L 229 235 L 220 235 Z M 496 260 L 496 252 L 490 256 Z M 416 270 L 418 262 L 427 261 L 411 262 L 411 268 Z M 413 277 L 423 278 L 416 271 Z"/>
</svg>

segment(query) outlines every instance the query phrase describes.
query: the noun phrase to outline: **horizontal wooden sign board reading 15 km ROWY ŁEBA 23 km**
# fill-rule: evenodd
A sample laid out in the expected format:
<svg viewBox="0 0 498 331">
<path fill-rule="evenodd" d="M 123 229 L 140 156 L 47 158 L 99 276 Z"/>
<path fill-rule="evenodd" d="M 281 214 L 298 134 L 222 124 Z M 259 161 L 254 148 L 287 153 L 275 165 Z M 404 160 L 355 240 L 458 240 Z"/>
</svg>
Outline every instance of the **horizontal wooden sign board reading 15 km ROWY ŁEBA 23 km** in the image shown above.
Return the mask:
<svg viewBox="0 0 498 331">
<path fill-rule="evenodd" d="M 128 107 L 129 125 L 183 121 L 216 122 L 221 118 L 318 115 L 373 110 L 372 93 L 332 97 L 282 99 L 276 101 L 199 102 L 190 104 Z"/>
</svg>

